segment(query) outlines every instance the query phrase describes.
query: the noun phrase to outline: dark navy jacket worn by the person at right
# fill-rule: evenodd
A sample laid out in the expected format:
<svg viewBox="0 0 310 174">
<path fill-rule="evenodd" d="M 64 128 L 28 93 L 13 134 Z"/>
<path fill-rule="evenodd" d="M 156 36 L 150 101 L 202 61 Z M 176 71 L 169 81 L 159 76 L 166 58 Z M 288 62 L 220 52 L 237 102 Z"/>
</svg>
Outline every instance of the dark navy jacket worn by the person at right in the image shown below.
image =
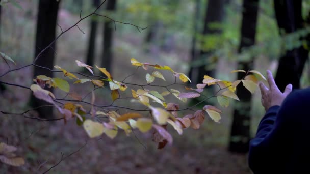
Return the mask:
<svg viewBox="0 0 310 174">
<path fill-rule="evenodd" d="M 254 173 L 310 173 L 310 88 L 269 108 L 250 141 L 249 167 Z"/>
</svg>

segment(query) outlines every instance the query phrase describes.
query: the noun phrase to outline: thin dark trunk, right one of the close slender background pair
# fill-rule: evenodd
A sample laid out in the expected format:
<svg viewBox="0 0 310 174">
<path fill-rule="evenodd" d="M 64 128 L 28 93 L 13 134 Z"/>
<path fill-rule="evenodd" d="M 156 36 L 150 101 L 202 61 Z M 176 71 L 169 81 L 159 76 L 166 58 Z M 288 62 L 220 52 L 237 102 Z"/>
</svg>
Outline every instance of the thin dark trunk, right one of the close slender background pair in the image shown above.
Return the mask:
<svg viewBox="0 0 310 174">
<path fill-rule="evenodd" d="M 116 0 L 109 0 L 107 2 L 107 11 L 114 11 L 116 8 Z M 101 67 L 105 67 L 108 71 L 112 70 L 112 45 L 113 45 L 113 30 L 114 25 L 111 20 L 104 23 L 104 49 L 102 52 Z"/>
</svg>

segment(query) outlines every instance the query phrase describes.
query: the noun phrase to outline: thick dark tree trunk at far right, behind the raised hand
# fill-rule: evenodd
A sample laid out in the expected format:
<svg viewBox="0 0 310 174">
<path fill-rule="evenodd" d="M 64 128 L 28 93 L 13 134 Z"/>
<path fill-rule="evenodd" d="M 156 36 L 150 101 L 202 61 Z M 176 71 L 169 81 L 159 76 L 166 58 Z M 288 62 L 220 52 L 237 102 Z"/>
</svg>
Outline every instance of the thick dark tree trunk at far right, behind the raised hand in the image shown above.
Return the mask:
<svg viewBox="0 0 310 174">
<path fill-rule="evenodd" d="M 275 15 L 280 31 L 293 33 L 303 28 L 301 6 L 301 0 L 274 1 Z M 283 33 L 280 34 L 283 35 Z M 300 88 L 300 78 L 308 53 L 308 50 L 300 46 L 293 50 L 287 50 L 285 55 L 280 57 L 275 82 L 281 91 L 285 90 L 289 83 L 293 85 L 293 89 Z"/>
</svg>

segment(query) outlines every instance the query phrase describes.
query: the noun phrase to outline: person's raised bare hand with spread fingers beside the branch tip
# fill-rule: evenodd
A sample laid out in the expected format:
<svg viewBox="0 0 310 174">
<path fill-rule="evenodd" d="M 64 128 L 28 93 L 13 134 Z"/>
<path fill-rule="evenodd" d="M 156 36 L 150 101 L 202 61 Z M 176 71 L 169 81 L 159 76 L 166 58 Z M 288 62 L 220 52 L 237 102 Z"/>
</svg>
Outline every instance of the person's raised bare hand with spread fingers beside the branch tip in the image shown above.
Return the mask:
<svg viewBox="0 0 310 174">
<path fill-rule="evenodd" d="M 269 70 L 267 70 L 267 81 L 270 89 L 268 89 L 262 82 L 259 84 L 262 93 L 262 105 L 265 107 L 266 111 L 271 106 L 280 106 L 287 95 L 291 93 L 293 87 L 292 84 L 288 84 L 284 93 L 281 93 L 278 86 L 274 82 L 272 73 Z"/>
</svg>

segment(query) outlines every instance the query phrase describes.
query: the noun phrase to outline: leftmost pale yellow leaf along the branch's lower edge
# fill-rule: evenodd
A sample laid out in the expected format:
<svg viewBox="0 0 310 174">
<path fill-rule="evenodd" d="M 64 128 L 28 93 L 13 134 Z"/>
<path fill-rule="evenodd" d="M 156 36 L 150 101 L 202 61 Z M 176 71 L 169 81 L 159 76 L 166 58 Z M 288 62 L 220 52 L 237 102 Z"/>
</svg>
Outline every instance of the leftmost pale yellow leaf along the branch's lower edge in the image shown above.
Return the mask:
<svg viewBox="0 0 310 174">
<path fill-rule="evenodd" d="M 100 136 L 104 133 L 104 125 L 89 119 L 84 121 L 83 127 L 90 138 Z"/>
</svg>

